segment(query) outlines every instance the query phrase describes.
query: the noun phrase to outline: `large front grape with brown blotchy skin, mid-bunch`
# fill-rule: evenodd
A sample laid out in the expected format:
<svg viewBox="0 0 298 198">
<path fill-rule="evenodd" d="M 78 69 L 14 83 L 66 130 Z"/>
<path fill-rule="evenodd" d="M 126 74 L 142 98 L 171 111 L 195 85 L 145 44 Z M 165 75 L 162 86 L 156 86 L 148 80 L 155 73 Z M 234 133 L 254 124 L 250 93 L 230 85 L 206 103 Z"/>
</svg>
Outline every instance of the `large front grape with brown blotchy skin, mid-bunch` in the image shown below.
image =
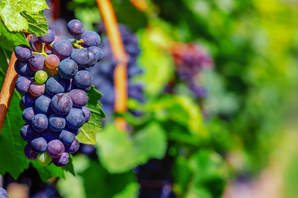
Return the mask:
<svg viewBox="0 0 298 198">
<path fill-rule="evenodd" d="M 66 115 L 72 108 L 72 100 L 65 93 L 58 93 L 52 98 L 52 110 L 58 115 Z"/>
</svg>

